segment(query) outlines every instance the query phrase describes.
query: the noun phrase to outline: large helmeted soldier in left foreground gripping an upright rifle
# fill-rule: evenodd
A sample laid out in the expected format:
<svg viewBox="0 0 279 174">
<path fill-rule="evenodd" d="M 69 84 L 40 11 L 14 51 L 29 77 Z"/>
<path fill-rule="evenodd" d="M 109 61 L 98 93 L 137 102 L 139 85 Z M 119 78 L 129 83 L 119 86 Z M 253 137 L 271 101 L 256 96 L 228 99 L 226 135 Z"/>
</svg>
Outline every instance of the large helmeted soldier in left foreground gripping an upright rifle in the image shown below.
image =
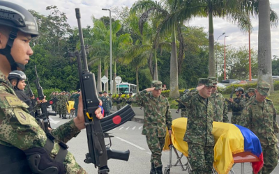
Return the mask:
<svg viewBox="0 0 279 174">
<path fill-rule="evenodd" d="M 31 165 L 31 162 L 34 162 L 36 166 L 33 166 L 33 168 L 39 166 L 39 170 L 43 173 L 47 173 L 45 171 L 47 168 L 54 167 L 58 168 L 58 173 L 86 173 L 77 164 L 73 155 L 67 152 L 66 147 L 59 143 L 61 141 L 67 143 L 77 136 L 81 129 L 85 128 L 82 112 L 78 114 L 78 118 L 74 118 L 46 134 L 46 130 L 43 130 L 36 119 L 28 113 L 27 104 L 15 95 L 7 79 L 11 70 L 24 70 L 24 65 L 28 63 L 29 56 L 33 54 L 29 42 L 32 37 L 38 35 L 36 19 L 28 10 L 9 1 L 0 1 L 0 10 L 3 16 L 11 14 L 17 16 L 16 19 L 0 18 L 1 172 L 36 173 L 31 171 L 29 167 L 29 164 Z M 6 52 L 3 52 L 3 49 Z M 82 109 L 82 102 L 80 102 L 80 110 L 82 111 Z M 99 108 L 95 113 L 98 118 L 103 118 L 100 111 Z M 61 155 L 61 152 L 66 157 Z M 41 160 L 32 161 L 32 155 L 39 155 Z M 27 158 L 31 161 L 30 163 Z"/>
</svg>

